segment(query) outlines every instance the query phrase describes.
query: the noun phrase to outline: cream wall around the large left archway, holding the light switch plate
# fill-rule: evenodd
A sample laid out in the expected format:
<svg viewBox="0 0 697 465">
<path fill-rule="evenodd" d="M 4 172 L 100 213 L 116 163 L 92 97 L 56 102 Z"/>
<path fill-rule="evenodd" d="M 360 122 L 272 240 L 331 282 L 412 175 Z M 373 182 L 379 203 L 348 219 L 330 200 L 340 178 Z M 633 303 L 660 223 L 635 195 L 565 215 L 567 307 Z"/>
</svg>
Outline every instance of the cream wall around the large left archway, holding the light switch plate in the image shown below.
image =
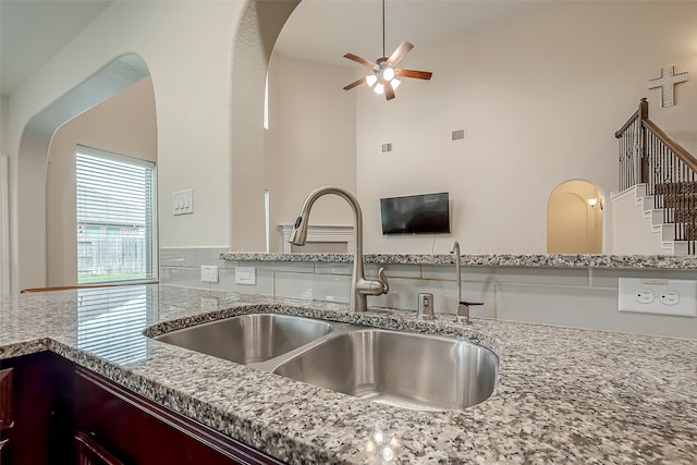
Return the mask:
<svg viewBox="0 0 697 465">
<path fill-rule="evenodd" d="M 46 184 L 47 144 L 28 137 L 25 127 L 123 53 L 145 60 L 155 87 L 161 211 L 171 211 L 172 192 L 194 189 L 194 215 L 160 217 L 160 243 L 229 244 L 230 58 L 244 7 L 243 0 L 114 2 L 10 96 L 9 155 L 11 180 L 16 181 L 11 191 L 13 292 L 45 285 L 47 277 L 40 233 L 45 205 L 27 193 L 28 186 Z M 51 134 L 48 127 L 38 138 Z M 16 169 L 21 143 L 30 176 Z M 27 217 L 33 211 L 37 213 Z"/>
</svg>

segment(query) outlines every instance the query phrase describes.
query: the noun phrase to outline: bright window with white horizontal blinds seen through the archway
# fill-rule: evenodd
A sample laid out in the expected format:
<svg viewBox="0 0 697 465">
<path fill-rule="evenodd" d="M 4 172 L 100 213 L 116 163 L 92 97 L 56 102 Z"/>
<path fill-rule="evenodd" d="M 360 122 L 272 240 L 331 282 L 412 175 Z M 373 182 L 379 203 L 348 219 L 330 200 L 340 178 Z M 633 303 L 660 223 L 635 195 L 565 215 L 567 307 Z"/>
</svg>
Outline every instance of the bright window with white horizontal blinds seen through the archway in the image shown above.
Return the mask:
<svg viewBox="0 0 697 465">
<path fill-rule="evenodd" d="M 77 147 L 77 282 L 157 279 L 155 163 Z"/>
</svg>

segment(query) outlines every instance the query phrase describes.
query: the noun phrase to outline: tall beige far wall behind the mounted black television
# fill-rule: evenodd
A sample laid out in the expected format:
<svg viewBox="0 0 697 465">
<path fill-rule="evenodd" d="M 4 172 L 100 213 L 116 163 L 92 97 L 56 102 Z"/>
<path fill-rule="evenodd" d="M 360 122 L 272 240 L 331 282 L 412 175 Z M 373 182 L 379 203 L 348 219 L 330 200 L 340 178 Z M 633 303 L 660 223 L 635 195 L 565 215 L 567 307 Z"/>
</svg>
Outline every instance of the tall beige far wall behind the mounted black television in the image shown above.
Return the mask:
<svg viewBox="0 0 697 465">
<path fill-rule="evenodd" d="M 549 2 L 416 44 L 401 65 L 432 71 L 431 82 L 403 79 L 391 102 L 356 89 L 366 250 L 447 253 L 456 238 L 464 254 L 545 253 L 557 185 L 585 179 L 608 197 L 617 189 L 613 134 L 641 97 L 697 155 L 695 17 L 695 2 Z M 690 81 L 676 87 L 677 106 L 662 109 L 647 82 L 667 65 Z M 467 139 L 450 142 L 463 127 Z M 383 155 L 388 142 L 394 150 Z M 380 197 L 441 191 L 451 194 L 450 236 L 380 234 Z"/>
</svg>

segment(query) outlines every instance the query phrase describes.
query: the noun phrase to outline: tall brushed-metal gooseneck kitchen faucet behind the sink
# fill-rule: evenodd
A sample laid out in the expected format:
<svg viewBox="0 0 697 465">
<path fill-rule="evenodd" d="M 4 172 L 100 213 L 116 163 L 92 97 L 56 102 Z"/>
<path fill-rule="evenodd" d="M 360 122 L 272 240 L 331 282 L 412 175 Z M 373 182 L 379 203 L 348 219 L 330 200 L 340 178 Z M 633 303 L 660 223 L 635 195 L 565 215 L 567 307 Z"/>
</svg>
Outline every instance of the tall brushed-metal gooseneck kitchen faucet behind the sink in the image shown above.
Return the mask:
<svg viewBox="0 0 697 465">
<path fill-rule="evenodd" d="M 366 311 L 368 309 L 368 295 L 382 295 L 390 291 L 390 284 L 384 276 L 384 268 L 378 271 L 379 281 L 366 280 L 363 270 L 363 213 L 358 200 L 348 191 L 342 187 L 323 186 L 313 191 L 301 209 L 301 215 L 295 220 L 295 225 L 291 232 L 290 243 L 293 245 L 305 245 L 307 241 L 307 219 L 313 204 L 319 197 L 334 194 L 343 198 L 353 209 L 353 274 L 351 277 L 351 311 Z"/>
</svg>

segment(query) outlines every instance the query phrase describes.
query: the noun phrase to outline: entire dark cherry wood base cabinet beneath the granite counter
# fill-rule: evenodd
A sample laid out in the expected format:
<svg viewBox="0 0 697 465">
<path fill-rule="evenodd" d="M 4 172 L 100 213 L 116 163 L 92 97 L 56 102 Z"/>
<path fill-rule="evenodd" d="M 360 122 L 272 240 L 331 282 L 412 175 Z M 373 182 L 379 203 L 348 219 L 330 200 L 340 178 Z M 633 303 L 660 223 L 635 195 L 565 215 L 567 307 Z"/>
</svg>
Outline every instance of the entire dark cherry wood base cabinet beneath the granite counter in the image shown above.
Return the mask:
<svg viewBox="0 0 697 465">
<path fill-rule="evenodd" d="M 56 354 L 0 364 L 3 465 L 282 463 Z"/>
</svg>

